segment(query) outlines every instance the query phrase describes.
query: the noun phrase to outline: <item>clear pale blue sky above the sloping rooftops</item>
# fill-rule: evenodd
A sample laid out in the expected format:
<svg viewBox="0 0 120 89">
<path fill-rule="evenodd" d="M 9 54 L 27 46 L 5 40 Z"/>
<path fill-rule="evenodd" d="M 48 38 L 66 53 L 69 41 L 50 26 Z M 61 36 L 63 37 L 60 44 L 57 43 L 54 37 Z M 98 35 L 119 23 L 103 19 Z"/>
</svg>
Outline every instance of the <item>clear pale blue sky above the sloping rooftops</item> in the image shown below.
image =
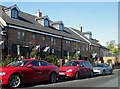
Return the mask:
<svg viewBox="0 0 120 89">
<path fill-rule="evenodd" d="M 52 21 L 63 21 L 66 27 L 83 27 L 102 45 L 115 40 L 118 43 L 118 2 L 2 2 L 16 4 L 20 11 L 35 15 L 39 9 Z"/>
</svg>

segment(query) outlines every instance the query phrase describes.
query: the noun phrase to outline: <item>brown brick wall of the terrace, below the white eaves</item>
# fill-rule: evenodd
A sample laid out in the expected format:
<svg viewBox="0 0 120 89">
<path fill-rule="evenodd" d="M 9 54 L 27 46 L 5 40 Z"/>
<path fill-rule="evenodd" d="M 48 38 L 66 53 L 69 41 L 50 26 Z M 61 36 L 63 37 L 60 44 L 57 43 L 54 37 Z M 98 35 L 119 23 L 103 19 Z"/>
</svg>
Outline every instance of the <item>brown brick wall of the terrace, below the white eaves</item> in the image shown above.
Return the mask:
<svg viewBox="0 0 120 89">
<path fill-rule="evenodd" d="M 6 39 L 6 45 L 10 49 L 11 54 L 12 54 L 12 44 L 20 44 L 20 45 L 29 46 L 30 43 L 31 43 L 30 47 L 34 46 L 34 44 L 40 45 L 41 48 L 50 46 L 50 48 L 58 50 L 58 53 L 59 53 L 58 57 L 62 59 L 65 59 L 65 52 L 69 51 L 70 52 L 69 56 L 73 56 L 73 53 L 75 53 L 76 51 L 75 41 L 70 41 L 70 43 L 66 43 L 66 41 L 69 41 L 69 40 L 56 38 L 56 37 L 43 35 L 43 34 L 38 34 L 38 33 L 33 33 L 33 32 L 28 32 L 28 31 L 23 31 L 19 29 L 10 28 L 10 27 L 5 28 L 5 30 L 7 31 L 8 36 L 4 39 Z M 19 40 L 17 38 L 19 31 L 25 32 L 24 41 Z M 33 39 L 32 37 L 33 34 L 35 35 L 36 40 Z M 45 40 L 43 40 L 43 36 L 45 37 Z M 55 45 L 51 42 L 51 38 L 56 40 Z M 82 55 L 83 57 L 90 57 L 88 43 L 82 43 L 82 42 L 78 43 L 77 51 L 79 50 L 80 50 L 80 55 Z"/>
</svg>

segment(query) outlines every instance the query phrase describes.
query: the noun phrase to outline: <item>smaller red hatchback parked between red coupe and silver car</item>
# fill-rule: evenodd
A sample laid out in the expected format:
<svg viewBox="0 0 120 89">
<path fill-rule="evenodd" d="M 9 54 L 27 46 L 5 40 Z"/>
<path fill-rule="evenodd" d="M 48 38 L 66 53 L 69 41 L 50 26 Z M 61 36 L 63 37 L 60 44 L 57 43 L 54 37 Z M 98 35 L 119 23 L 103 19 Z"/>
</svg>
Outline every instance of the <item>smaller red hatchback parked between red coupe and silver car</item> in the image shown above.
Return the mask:
<svg viewBox="0 0 120 89">
<path fill-rule="evenodd" d="M 69 77 L 78 79 L 81 76 L 93 76 L 93 67 L 88 61 L 71 60 L 59 68 L 59 78 Z"/>
</svg>

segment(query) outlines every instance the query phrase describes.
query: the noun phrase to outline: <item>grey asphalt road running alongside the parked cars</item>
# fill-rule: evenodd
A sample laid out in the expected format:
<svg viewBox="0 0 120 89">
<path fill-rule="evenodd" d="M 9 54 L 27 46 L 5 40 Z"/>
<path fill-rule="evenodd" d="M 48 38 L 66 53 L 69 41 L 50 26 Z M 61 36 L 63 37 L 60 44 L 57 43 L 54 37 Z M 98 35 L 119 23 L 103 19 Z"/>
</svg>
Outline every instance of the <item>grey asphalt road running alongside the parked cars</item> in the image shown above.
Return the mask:
<svg viewBox="0 0 120 89">
<path fill-rule="evenodd" d="M 106 76 L 94 76 L 92 78 L 82 78 L 78 80 L 58 80 L 57 83 L 49 84 L 47 82 L 44 83 L 35 83 L 35 84 L 25 84 L 18 89 L 34 89 L 34 88 L 53 88 L 53 87 L 113 87 L 120 88 L 120 70 L 114 70 L 112 75 Z M 5 89 L 5 88 L 4 88 Z"/>
</svg>

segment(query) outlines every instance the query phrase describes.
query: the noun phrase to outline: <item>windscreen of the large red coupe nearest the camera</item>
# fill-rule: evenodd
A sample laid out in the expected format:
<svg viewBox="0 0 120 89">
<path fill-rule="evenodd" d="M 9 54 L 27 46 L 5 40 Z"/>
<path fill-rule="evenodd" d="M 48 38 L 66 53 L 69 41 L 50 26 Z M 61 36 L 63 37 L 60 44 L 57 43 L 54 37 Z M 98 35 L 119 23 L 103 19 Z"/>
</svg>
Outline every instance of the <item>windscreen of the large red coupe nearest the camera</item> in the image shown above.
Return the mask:
<svg viewBox="0 0 120 89">
<path fill-rule="evenodd" d="M 8 64 L 7 66 L 13 66 L 13 67 L 23 67 L 29 60 L 19 60 L 14 61 Z"/>
</svg>

